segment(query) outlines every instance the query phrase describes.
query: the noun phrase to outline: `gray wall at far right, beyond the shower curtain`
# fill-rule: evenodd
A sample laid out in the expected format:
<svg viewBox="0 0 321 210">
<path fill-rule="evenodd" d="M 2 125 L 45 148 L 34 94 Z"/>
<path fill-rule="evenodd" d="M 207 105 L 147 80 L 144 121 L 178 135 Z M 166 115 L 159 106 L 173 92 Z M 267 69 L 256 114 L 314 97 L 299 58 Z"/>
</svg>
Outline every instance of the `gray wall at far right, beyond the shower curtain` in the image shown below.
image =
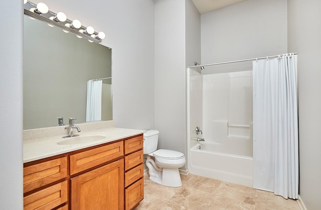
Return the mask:
<svg viewBox="0 0 321 210">
<path fill-rule="evenodd" d="M 321 199 L 321 2 L 288 1 L 288 51 L 297 52 L 299 108 L 299 194 L 307 209 Z"/>
</svg>

